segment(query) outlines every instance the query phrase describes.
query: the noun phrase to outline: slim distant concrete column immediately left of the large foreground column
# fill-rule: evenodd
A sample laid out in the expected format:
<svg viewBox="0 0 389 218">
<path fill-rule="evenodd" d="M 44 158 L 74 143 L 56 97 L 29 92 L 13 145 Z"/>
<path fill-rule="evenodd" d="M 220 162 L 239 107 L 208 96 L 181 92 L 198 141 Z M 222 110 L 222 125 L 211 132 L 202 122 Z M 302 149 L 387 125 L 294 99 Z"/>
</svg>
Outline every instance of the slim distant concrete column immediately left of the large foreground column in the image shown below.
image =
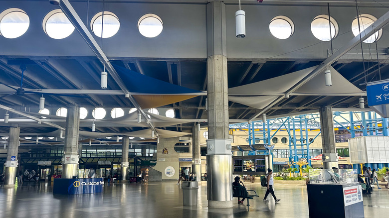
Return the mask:
<svg viewBox="0 0 389 218">
<path fill-rule="evenodd" d="M 200 154 L 200 131 L 197 125 L 192 128 L 192 172 L 196 176 L 196 181 L 201 182 L 201 154 Z"/>
</svg>

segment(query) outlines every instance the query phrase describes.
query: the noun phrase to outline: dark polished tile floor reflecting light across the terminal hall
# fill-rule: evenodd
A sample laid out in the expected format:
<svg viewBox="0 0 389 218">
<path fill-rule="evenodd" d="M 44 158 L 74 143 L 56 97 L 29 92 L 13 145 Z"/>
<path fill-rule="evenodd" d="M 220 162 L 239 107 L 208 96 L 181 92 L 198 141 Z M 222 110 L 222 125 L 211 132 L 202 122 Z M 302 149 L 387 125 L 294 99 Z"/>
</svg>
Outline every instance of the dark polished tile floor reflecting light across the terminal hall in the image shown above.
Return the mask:
<svg viewBox="0 0 389 218">
<path fill-rule="evenodd" d="M 281 199 L 262 202 L 265 188 L 245 183 L 260 198 L 250 200 L 250 211 L 238 205 L 232 209 L 208 209 L 206 185 L 198 190 L 198 205 L 183 206 L 181 186 L 176 182 L 149 184 L 106 184 L 103 193 L 87 195 L 53 195 L 47 183 L 24 183 L 17 188 L 0 188 L 0 218 L 307 218 L 306 186 L 275 185 Z M 387 217 L 389 189 L 364 195 L 366 218 Z M 319 212 L 320 213 L 320 212 Z"/>
</svg>

